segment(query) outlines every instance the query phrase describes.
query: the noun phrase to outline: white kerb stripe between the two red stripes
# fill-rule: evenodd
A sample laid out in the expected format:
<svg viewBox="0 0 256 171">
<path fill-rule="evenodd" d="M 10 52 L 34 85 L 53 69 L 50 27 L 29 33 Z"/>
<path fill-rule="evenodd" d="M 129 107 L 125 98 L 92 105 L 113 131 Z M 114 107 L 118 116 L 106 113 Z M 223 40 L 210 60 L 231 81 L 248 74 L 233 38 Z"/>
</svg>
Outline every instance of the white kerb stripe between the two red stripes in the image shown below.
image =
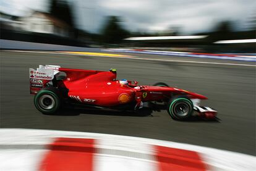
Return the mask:
<svg viewBox="0 0 256 171">
<path fill-rule="evenodd" d="M 129 138 L 106 137 L 96 141 L 97 151 L 93 156 L 93 168 L 103 170 L 157 170 L 157 162 L 151 155 L 153 148 L 150 144 L 129 140 Z"/>
</svg>

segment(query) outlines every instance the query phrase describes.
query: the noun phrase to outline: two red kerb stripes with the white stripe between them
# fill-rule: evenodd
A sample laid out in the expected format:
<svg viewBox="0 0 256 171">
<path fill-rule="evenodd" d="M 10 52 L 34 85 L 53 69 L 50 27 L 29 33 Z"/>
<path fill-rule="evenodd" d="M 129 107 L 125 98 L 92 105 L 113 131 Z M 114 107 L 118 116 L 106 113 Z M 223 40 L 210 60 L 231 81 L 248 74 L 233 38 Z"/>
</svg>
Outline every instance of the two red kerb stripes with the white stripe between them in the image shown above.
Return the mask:
<svg viewBox="0 0 256 171">
<path fill-rule="evenodd" d="M 194 151 L 136 142 L 127 151 L 122 145 L 114 148 L 112 143 L 87 138 L 56 138 L 48 145 L 49 151 L 40 162 L 39 170 L 207 170 L 207 165 Z M 130 146 L 131 142 L 128 143 Z"/>
</svg>

